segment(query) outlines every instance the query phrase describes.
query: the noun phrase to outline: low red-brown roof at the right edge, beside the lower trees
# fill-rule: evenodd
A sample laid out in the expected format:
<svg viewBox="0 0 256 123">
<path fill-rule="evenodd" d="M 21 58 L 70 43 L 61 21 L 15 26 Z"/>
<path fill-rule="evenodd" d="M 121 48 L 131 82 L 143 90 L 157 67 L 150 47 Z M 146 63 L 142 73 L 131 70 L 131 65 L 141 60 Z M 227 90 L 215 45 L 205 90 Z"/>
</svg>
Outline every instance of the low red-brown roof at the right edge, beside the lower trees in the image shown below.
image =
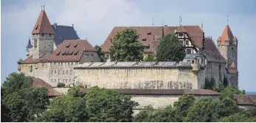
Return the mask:
<svg viewBox="0 0 256 123">
<path fill-rule="evenodd" d="M 255 105 L 256 103 L 256 95 L 235 94 L 234 98 L 238 105 Z"/>
</svg>

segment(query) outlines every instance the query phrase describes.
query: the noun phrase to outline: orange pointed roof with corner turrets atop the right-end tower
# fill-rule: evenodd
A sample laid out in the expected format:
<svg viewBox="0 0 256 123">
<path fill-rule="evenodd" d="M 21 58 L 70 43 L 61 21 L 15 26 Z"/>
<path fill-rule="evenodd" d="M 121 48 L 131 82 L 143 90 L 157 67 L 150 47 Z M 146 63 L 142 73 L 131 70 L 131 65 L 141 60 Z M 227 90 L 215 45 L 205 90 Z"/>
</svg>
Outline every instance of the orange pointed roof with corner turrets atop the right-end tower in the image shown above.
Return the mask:
<svg viewBox="0 0 256 123">
<path fill-rule="evenodd" d="M 233 39 L 234 39 L 234 36 L 232 34 L 232 31 L 231 31 L 229 25 L 226 25 L 226 27 L 221 35 L 221 39 L 218 39 L 218 41 L 221 41 L 220 45 L 225 45 L 226 40 L 232 41 Z M 236 39 L 236 37 L 235 37 L 235 39 Z"/>
</svg>

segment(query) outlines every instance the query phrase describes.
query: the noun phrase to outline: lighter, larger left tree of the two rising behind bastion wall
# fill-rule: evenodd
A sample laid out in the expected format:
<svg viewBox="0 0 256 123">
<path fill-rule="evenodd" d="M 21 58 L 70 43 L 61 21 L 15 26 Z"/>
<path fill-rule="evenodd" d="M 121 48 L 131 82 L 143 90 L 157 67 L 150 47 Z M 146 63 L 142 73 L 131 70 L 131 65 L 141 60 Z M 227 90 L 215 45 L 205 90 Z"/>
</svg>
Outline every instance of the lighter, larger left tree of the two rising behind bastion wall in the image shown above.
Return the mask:
<svg viewBox="0 0 256 123">
<path fill-rule="evenodd" d="M 110 55 L 112 61 L 139 62 L 143 61 L 145 46 L 138 42 L 139 34 L 136 29 L 124 29 L 117 32 L 112 41 Z"/>
</svg>

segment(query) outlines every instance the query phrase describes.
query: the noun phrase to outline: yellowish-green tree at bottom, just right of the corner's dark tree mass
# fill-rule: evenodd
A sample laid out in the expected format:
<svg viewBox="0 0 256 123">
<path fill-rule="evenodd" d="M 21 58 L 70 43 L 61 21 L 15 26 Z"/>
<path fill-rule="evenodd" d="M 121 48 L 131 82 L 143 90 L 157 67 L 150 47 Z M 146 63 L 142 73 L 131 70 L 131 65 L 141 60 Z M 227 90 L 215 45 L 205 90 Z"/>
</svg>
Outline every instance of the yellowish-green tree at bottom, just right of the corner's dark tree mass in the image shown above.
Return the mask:
<svg viewBox="0 0 256 123">
<path fill-rule="evenodd" d="M 88 122 L 86 97 L 79 87 L 69 89 L 63 97 L 55 98 L 36 122 Z"/>
</svg>

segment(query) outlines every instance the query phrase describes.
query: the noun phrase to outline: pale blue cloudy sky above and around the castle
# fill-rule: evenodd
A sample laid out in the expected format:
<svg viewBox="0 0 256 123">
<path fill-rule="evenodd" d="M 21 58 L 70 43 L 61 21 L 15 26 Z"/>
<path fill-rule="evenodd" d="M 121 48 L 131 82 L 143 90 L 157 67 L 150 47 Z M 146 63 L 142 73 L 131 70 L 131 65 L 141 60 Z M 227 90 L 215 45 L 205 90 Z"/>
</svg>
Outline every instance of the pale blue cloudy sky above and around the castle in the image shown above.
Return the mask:
<svg viewBox="0 0 256 123">
<path fill-rule="evenodd" d="M 102 45 L 114 26 L 199 25 L 206 36 L 221 36 L 229 26 L 238 37 L 239 88 L 256 92 L 256 1 L 254 0 L 2 0 L 1 83 L 26 58 L 32 28 L 46 4 L 51 23 L 74 24 L 81 39 Z"/>
</svg>

